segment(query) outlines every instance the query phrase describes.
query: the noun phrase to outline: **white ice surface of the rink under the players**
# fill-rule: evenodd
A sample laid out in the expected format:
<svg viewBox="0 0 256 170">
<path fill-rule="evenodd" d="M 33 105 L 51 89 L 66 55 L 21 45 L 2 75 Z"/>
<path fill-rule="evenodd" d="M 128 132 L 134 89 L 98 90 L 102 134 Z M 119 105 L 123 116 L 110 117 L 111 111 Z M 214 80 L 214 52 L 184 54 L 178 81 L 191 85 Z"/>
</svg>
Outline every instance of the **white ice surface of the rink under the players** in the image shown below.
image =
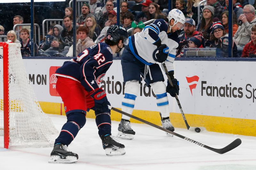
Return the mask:
<svg viewBox="0 0 256 170">
<path fill-rule="evenodd" d="M 49 115 L 58 130 L 66 116 Z M 112 135 L 119 122 L 112 122 Z M 170 170 L 256 170 L 256 137 L 215 132 L 191 132 L 175 129 L 176 133 L 214 148 L 223 148 L 236 138 L 242 144 L 225 154 L 218 154 L 179 137 L 167 137 L 164 131 L 146 124 L 132 123 L 133 140 L 119 139 L 126 154 L 108 157 L 102 149 L 94 119 L 87 119 L 75 140 L 69 145 L 78 154 L 75 164 L 49 164 L 52 147 L 4 149 L 0 137 L 0 170 L 91 170 L 91 169 L 170 169 Z"/>
</svg>

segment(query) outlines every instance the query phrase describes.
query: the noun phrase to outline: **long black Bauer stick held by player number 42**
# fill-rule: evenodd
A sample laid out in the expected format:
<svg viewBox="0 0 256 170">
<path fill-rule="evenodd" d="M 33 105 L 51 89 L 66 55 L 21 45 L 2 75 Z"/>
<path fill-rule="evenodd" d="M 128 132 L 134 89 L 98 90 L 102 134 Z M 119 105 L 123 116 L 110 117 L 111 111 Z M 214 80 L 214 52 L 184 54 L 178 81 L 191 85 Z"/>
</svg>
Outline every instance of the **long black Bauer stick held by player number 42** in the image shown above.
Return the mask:
<svg viewBox="0 0 256 170">
<path fill-rule="evenodd" d="M 206 149 L 209 149 L 209 150 L 211 150 L 211 151 L 213 151 L 213 152 L 217 152 L 217 153 L 219 153 L 219 154 L 223 154 L 223 153 L 226 153 L 226 152 L 228 152 L 228 151 L 231 151 L 232 149 L 235 149 L 237 146 L 239 146 L 239 145 L 242 143 L 241 139 L 237 138 L 236 140 L 234 140 L 232 143 L 228 144 L 228 145 L 225 146 L 224 148 L 221 148 L 221 149 L 212 148 L 212 147 L 210 147 L 210 146 L 207 146 L 207 145 L 205 145 L 205 144 L 202 144 L 202 143 L 200 143 L 200 142 L 197 142 L 197 141 L 195 141 L 195 140 L 193 140 L 193 139 L 190 139 L 190 138 L 188 138 L 188 137 L 184 137 L 184 136 L 182 136 L 182 135 L 180 135 L 180 134 L 178 134 L 178 133 L 175 133 L 175 132 L 172 132 L 172 131 L 170 131 L 170 130 L 164 129 L 164 128 L 160 127 L 160 126 L 157 126 L 156 124 L 153 124 L 153 123 L 150 123 L 150 122 L 145 121 L 145 120 L 143 120 L 143 119 L 140 119 L 139 117 L 136 117 L 136 116 L 130 115 L 130 114 L 126 113 L 126 112 L 123 112 L 123 111 L 121 111 L 121 110 L 118 110 L 118 109 L 116 109 L 116 108 L 114 108 L 114 107 L 108 106 L 108 108 L 111 109 L 111 110 L 114 110 L 114 111 L 116 111 L 116 112 L 118 112 L 118 113 L 121 113 L 121 114 L 123 114 L 123 115 L 129 116 L 129 117 L 131 117 L 131 118 L 133 118 L 133 119 L 135 119 L 135 120 L 138 120 L 138 121 L 140 121 L 140 122 L 146 123 L 146 124 L 148 124 L 148 125 L 150 125 L 150 126 L 153 126 L 153 127 L 157 128 L 157 129 L 163 130 L 163 131 L 165 131 L 165 132 L 167 132 L 167 133 L 170 133 L 170 134 L 172 134 L 172 135 L 175 135 L 175 136 L 177 136 L 177 137 L 180 137 L 180 138 L 182 138 L 182 139 L 185 139 L 185 140 L 188 141 L 188 142 L 194 143 L 194 144 L 196 144 L 196 145 L 198 145 L 198 146 L 202 146 L 202 147 L 204 147 L 204 148 L 206 148 Z"/>
</svg>

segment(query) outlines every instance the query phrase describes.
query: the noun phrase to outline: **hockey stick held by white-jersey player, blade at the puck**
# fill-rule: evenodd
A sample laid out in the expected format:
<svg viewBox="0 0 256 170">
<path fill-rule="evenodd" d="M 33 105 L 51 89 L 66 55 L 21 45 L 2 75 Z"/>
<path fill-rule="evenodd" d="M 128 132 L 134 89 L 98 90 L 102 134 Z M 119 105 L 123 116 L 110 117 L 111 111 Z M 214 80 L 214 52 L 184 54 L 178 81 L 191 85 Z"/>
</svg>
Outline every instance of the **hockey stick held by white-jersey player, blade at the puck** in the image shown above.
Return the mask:
<svg viewBox="0 0 256 170">
<path fill-rule="evenodd" d="M 168 70 L 167 70 L 167 68 L 166 68 L 166 65 L 165 65 L 165 63 L 162 63 L 162 64 L 163 64 L 163 67 L 164 67 L 165 74 L 166 74 L 166 76 L 167 76 L 167 78 L 168 78 L 168 81 L 169 81 L 170 85 L 173 87 L 172 80 L 171 80 L 171 77 L 170 77 L 170 75 L 169 75 L 169 73 L 168 73 Z M 190 131 L 195 131 L 195 132 L 197 132 L 197 133 L 199 133 L 199 132 L 202 131 L 202 130 L 205 130 L 205 127 L 191 127 L 191 126 L 188 125 L 187 119 L 186 119 L 186 117 L 185 117 L 185 115 L 184 115 L 184 112 L 183 112 L 183 109 L 182 109 L 182 107 L 181 107 L 181 105 L 180 105 L 180 100 L 179 100 L 177 94 L 176 94 L 176 96 L 175 96 L 175 99 L 176 99 L 176 101 L 177 101 L 177 103 L 178 103 L 178 106 L 180 107 L 180 112 L 181 112 L 181 115 L 182 115 L 182 117 L 183 117 L 183 120 L 184 120 L 184 122 L 185 122 L 185 124 L 186 124 L 186 126 L 187 126 L 187 129 L 190 130 Z"/>
</svg>

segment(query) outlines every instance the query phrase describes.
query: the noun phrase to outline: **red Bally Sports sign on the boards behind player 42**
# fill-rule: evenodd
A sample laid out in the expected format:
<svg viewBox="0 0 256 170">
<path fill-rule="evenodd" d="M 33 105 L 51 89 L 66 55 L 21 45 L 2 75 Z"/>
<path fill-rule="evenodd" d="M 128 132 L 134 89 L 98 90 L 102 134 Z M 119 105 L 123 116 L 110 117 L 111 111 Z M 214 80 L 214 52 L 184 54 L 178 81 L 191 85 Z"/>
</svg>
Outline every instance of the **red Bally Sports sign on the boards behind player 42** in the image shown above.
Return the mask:
<svg viewBox="0 0 256 170">
<path fill-rule="evenodd" d="M 49 69 L 49 92 L 51 96 L 60 96 L 56 91 L 57 77 L 54 75 L 59 66 L 51 66 Z"/>
</svg>

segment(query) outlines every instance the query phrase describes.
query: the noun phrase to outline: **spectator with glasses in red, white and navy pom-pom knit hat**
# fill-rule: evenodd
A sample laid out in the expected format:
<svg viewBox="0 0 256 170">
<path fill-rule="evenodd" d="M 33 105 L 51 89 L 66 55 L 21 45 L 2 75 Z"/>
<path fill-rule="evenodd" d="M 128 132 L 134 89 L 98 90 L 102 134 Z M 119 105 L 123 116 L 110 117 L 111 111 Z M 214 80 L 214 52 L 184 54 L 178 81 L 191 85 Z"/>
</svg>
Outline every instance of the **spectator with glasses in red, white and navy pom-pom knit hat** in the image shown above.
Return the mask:
<svg viewBox="0 0 256 170">
<path fill-rule="evenodd" d="M 226 33 L 222 22 L 214 22 L 211 29 L 211 41 L 207 40 L 205 44 L 210 45 L 210 47 L 220 48 L 220 56 L 228 57 L 228 33 Z M 236 43 L 233 43 L 233 57 L 239 57 Z"/>
</svg>

